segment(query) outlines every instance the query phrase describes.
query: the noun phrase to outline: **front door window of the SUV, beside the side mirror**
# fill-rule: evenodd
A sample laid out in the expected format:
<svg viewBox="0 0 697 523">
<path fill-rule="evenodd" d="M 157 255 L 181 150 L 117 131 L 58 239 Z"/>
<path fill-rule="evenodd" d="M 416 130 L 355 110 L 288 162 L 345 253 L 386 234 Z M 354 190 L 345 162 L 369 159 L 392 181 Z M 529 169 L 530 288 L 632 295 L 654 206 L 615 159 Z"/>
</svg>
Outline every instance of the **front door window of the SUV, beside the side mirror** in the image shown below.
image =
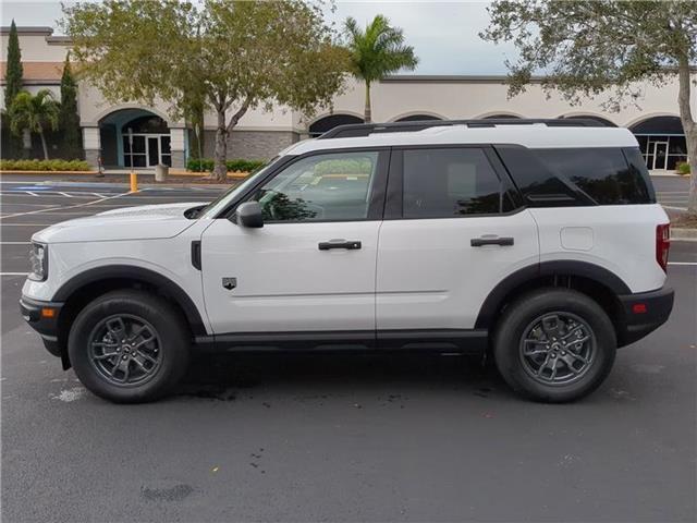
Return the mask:
<svg viewBox="0 0 697 523">
<path fill-rule="evenodd" d="M 378 151 L 335 153 L 301 159 L 255 191 L 264 220 L 354 221 L 368 217 Z"/>
</svg>

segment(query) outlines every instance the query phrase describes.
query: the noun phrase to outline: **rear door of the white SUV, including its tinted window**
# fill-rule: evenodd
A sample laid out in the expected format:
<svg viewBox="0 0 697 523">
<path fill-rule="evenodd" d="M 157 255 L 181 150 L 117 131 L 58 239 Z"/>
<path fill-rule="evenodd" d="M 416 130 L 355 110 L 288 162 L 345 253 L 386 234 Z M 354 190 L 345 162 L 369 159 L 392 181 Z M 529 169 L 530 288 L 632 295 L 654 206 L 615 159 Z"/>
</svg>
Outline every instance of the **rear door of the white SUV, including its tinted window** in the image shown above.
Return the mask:
<svg viewBox="0 0 697 523">
<path fill-rule="evenodd" d="M 488 293 L 538 260 L 535 220 L 489 146 L 393 150 L 378 245 L 378 336 L 472 329 Z"/>
</svg>

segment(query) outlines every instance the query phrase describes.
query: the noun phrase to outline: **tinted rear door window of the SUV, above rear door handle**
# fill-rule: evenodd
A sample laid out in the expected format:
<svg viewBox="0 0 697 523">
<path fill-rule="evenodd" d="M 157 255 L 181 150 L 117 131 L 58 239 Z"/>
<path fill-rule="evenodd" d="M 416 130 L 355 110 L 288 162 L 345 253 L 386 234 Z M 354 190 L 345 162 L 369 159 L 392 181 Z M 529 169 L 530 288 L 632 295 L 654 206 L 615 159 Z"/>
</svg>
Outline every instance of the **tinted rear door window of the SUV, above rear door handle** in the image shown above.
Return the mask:
<svg viewBox="0 0 697 523">
<path fill-rule="evenodd" d="M 484 150 L 404 150 L 404 218 L 451 218 L 501 208 L 501 182 Z"/>
</svg>

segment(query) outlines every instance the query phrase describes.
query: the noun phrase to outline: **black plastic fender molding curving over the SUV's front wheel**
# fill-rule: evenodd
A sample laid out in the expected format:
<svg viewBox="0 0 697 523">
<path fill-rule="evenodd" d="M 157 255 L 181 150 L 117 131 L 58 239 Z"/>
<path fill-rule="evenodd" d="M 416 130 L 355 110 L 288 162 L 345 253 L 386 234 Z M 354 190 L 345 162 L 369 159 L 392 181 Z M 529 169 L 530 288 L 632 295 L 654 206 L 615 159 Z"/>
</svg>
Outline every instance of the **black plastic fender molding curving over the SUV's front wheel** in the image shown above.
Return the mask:
<svg viewBox="0 0 697 523">
<path fill-rule="evenodd" d="M 65 302 L 71 295 L 76 291 L 80 291 L 80 289 L 85 285 L 96 283 L 100 280 L 114 279 L 130 280 L 134 282 L 139 281 L 163 289 L 164 293 L 176 302 L 184 312 L 184 315 L 192 328 L 192 333 L 194 336 L 205 336 L 207 333 L 198 308 L 196 308 L 192 299 L 181 287 L 158 272 L 144 269 L 142 267 L 134 267 L 132 265 L 107 265 L 81 272 L 64 282 L 58 291 L 56 291 L 56 295 L 52 301 Z"/>
</svg>

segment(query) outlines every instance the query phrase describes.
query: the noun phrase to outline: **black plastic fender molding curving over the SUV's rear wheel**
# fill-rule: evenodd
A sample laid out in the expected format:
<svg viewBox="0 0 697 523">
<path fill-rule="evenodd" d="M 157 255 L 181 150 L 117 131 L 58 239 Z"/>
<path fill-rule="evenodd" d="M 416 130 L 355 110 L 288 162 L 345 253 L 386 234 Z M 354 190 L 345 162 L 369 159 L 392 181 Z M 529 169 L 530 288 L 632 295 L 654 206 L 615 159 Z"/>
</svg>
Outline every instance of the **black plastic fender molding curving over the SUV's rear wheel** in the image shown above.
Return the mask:
<svg viewBox="0 0 697 523">
<path fill-rule="evenodd" d="M 631 289 L 620 277 L 598 265 L 576 260 L 542 262 L 541 264 L 518 269 L 499 282 L 484 301 L 479 309 L 479 315 L 477 316 L 477 321 L 475 323 L 475 329 L 489 328 L 494 323 L 496 316 L 504 300 L 515 289 L 536 278 L 553 277 L 557 275 L 575 276 L 592 280 L 606 287 L 615 295 L 632 293 Z"/>
</svg>

